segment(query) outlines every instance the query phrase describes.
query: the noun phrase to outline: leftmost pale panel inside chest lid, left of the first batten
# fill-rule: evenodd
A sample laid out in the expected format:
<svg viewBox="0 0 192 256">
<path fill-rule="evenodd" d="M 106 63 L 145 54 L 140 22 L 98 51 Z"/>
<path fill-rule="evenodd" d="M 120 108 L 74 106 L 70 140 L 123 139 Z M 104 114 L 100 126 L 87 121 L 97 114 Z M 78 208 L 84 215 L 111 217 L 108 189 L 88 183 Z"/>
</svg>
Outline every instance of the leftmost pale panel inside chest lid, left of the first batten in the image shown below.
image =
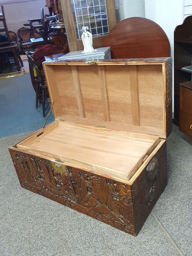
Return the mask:
<svg viewBox="0 0 192 256">
<path fill-rule="evenodd" d="M 71 66 L 56 65 L 55 76 L 63 115 L 79 116 L 77 96 Z M 49 79 L 50 76 L 48 76 Z M 57 104 L 55 102 L 55 104 Z"/>
</svg>

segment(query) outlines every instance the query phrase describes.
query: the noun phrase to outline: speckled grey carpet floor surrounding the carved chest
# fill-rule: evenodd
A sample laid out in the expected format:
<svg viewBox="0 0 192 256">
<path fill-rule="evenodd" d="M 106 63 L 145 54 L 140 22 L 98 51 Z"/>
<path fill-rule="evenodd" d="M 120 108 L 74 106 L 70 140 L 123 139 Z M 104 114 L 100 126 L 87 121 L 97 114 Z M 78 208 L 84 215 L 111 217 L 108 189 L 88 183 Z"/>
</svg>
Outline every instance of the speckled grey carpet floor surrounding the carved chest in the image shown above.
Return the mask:
<svg viewBox="0 0 192 256">
<path fill-rule="evenodd" d="M 20 187 L 7 147 L 29 135 L 0 139 L 0 255 L 192 255 L 192 140 L 173 127 L 168 185 L 133 237 Z"/>
</svg>

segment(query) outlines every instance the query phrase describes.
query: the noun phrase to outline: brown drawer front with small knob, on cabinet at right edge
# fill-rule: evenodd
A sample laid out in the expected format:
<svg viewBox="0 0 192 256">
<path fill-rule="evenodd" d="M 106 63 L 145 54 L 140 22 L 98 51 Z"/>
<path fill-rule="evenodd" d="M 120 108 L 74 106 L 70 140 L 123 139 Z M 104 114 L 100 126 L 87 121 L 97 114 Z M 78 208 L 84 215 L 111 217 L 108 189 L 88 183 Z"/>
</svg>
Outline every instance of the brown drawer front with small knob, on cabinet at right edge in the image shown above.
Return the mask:
<svg viewBox="0 0 192 256">
<path fill-rule="evenodd" d="M 192 137 L 192 114 L 180 110 L 179 130 Z"/>
</svg>

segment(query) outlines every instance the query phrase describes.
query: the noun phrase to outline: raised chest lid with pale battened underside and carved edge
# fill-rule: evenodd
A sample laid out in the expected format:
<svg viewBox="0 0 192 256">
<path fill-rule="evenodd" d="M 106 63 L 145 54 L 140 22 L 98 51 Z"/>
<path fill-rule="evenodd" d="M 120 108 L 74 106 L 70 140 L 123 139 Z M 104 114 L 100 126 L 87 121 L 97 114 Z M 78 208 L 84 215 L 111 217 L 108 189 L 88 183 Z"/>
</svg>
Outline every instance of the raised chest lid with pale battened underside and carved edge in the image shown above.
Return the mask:
<svg viewBox="0 0 192 256">
<path fill-rule="evenodd" d="M 49 60 L 43 67 L 56 120 L 171 133 L 172 58 Z"/>
</svg>

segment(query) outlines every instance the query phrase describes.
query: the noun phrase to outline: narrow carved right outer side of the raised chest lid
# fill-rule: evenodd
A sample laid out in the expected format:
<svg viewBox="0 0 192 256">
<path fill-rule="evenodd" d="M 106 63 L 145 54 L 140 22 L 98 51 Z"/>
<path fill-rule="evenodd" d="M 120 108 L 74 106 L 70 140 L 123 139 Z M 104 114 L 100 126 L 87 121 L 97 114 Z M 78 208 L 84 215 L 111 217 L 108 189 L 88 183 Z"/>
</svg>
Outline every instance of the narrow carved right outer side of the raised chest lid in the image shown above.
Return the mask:
<svg viewBox="0 0 192 256">
<path fill-rule="evenodd" d="M 172 59 L 166 61 L 166 136 L 172 132 Z"/>
</svg>

